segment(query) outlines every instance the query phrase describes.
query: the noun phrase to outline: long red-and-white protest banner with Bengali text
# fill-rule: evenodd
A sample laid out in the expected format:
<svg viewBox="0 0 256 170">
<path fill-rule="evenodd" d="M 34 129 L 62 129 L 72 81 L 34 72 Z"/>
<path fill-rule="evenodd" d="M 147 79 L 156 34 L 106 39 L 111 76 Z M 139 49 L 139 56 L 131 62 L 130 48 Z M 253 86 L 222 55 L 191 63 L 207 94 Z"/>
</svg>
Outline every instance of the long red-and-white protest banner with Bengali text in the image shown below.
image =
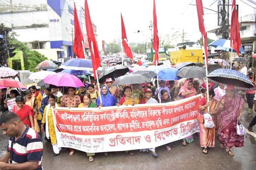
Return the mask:
<svg viewBox="0 0 256 170">
<path fill-rule="evenodd" d="M 102 108 L 55 108 L 59 147 L 88 153 L 158 147 L 199 131 L 201 95 L 175 102 Z"/>
</svg>

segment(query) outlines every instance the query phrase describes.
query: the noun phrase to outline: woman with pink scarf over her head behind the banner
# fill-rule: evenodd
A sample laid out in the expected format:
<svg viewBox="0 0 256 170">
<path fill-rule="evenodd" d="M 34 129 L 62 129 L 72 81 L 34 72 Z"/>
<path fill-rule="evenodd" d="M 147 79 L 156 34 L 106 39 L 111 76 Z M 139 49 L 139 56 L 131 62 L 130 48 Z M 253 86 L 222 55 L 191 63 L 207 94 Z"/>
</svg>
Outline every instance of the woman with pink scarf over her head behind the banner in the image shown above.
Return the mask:
<svg viewBox="0 0 256 170">
<path fill-rule="evenodd" d="M 178 96 L 182 97 L 183 99 L 195 96 L 198 93 L 196 92 L 195 88 L 193 88 L 193 82 L 191 79 L 186 79 L 184 85 L 180 88 Z M 183 139 L 182 144 L 186 145 L 186 143 L 194 142 L 193 135 L 186 137 Z"/>
</svg>

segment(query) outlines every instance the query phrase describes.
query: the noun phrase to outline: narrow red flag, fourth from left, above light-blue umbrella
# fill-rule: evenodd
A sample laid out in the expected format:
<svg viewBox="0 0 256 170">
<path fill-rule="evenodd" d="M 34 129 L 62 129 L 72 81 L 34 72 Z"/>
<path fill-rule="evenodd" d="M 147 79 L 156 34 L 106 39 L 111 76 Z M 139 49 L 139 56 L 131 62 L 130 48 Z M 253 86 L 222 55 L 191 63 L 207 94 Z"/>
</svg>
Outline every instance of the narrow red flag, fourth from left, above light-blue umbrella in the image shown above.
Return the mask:
<svg viewBox="0 0 256 170">
<path fill-rule="evenodd" d="M 155 0 L 153 5 L 153 25 L 154 25 L 153 49 L 155 51 L 154 65 L 156 65 L 156 61 L 158 63 L 159 38 L 158 38 L 158 31 L 157 31 L 157 13 L 156 13 Z"/>
</svg>

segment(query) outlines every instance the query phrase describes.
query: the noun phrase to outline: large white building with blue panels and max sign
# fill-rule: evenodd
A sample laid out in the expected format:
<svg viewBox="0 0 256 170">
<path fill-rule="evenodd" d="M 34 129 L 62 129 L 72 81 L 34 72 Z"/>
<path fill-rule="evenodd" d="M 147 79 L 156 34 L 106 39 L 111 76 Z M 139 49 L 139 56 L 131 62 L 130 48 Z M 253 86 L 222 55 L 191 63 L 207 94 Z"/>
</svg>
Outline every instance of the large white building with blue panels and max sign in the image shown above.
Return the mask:
<svg viewBox="0 0 256 170">
<path fill-rule="evenodd" d="M 74 3 L 68 0 L 1 0 L 0 23 L 48 59 L 73 57 Z M 76 3 L 85 35 L 84 8 Z M 94 31 L 96 32 L 96 26 Z M 85 43 L 85 42 L 84 42 Z M 85 43 L 85 48 L 88 45 Z"/>
</svg>

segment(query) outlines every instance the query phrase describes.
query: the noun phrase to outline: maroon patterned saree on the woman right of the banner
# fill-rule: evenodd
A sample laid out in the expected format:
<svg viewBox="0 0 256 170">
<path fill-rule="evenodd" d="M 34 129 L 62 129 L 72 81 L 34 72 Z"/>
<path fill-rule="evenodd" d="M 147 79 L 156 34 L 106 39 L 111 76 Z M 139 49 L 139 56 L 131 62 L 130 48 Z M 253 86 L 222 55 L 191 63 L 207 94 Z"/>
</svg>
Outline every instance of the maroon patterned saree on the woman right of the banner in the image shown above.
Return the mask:
<svg viewBox="0 0 256 170">
<path fill-rule="evenodd" d="M 244 146 L 244 136 L 236 133 L 236 123 L 244 105 L 244 99 L 235 94 L 231 99 L 223 96 L 225 99 L 224 110 L 218 116 L 218 134 L 220 143 L 227 147 Z"/>
</svg>

